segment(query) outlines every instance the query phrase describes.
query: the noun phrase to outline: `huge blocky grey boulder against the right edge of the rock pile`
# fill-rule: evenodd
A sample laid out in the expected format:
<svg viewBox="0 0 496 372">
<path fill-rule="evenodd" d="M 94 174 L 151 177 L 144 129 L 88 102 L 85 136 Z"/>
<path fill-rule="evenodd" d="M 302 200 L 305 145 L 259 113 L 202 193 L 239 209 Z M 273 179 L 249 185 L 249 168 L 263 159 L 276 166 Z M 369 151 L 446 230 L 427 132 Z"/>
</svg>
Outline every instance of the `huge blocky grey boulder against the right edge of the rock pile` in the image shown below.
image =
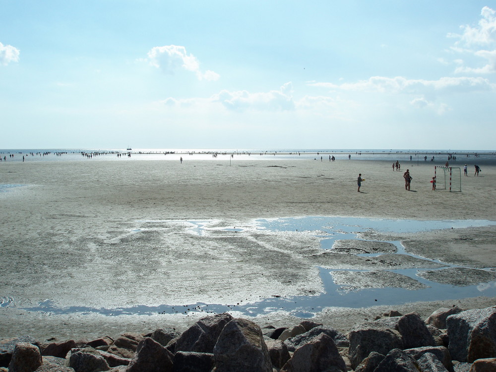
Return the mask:
<svg viewBox="0 0 496 372">
<path fill-rule="evenodd" d="M 449 315 L 446 326 L 452 359 L 472 363 L 496 355 L 496 307 Z"/>
</svg>

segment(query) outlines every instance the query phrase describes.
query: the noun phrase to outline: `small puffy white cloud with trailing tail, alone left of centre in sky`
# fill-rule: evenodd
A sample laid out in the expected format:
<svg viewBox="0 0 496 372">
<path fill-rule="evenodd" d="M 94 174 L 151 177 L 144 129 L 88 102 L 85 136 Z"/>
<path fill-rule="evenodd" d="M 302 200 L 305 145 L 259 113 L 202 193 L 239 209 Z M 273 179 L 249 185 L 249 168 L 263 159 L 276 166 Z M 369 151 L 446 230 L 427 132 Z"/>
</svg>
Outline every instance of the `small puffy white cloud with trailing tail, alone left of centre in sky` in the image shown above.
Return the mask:
<svg viewBox="0 0 496 372">
<path fill-rule="evenodd" d="M 186 48 L 177 45 L 154 47 L 148 52 L 148 61 L 166 74 L 174 75 L 179 70 L 195 72 L 198 79 L 217 80 L 220 75 L 214 71 L 201 72 L 200 62 Z"/>
</svg>

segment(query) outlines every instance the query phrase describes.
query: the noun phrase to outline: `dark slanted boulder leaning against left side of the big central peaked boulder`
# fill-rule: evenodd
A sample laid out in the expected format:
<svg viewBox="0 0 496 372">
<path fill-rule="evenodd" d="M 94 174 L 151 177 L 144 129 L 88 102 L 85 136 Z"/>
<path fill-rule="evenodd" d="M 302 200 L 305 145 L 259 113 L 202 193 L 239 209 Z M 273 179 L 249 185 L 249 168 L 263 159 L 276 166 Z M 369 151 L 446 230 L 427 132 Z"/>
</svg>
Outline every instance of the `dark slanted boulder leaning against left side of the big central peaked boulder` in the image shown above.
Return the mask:
<svg viewBox="0 0 496 372">
<path fill-rule="evenodd" d="M 212 353 L 222 329 L 232 319 L 227 312 L 199 319 L 177 339 L 175 351 Z"/>
</svg>

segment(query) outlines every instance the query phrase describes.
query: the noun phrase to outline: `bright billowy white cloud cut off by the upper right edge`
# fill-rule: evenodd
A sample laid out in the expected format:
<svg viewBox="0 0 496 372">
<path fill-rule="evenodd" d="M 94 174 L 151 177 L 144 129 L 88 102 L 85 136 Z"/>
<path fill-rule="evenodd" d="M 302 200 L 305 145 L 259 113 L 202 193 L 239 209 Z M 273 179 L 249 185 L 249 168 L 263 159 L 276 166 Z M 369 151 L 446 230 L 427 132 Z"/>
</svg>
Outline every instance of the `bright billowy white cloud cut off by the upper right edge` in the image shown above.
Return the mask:
<svg viewBox="0 0 496 372">
<path fill-rule="evenodd" d="M 455 72 L 487 74 L 496 72 L 496 12 L 488 6 L 482 8 L 481 20 L 476 27 L 460 26 L 462 34 L 448 34 L 448 37 L 459 39 L 451 50 L 455 53 L 465 53 L 486 62 L 482 67 L 461 65 Z"/>
</svg>

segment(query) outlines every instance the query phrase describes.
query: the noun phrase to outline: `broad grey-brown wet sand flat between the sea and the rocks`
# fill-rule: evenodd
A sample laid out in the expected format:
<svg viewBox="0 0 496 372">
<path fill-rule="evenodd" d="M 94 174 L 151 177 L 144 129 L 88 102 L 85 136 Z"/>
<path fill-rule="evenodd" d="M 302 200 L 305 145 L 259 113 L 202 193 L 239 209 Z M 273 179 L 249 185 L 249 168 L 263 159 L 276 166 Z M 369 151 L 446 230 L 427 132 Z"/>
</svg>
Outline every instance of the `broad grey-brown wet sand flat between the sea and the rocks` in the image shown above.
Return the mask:
<svg viewBox="0 0 496 372">
<path fill-rule="evenodd" d="M 110 156 L 110 155 L 109 155 Z M 254 220 L 297 216 L 411 220 L 496 221 L 496 165 L 463 176 L 462 192 L 431 190 L 430 162 L 372 160 L 212 160 L 3 162 L 0 184 L 0 338 L 29 334 L 40 339 L 115 336 L 159 327 L 185 329 L 204 312 L 109 315 L 53 313 L 38 309 L 112 309 L 163 304 L 256 303 L 271 296 L 312 296 L 322 291 L 318 267 L 391 269 L 392 261 L 353 252 L 322 255 L 306 232 L 274 234 Z M 440 164 L 438 164 L 440 165 Z M 405 190 L 403 171 L 413 177 Z M 365 182 L 357 192 L 357 177 Z M 202 221 L 201 234 L 188 221 Z M 465 268 L 496 267 L 496 226 L 419 233 L 369 231 L 365 240 L 398 240 L 408 253 Z M 363 259 L 362 259 L 363 258 Z M 428 267 L 396 259 L 405 268 Z M 420 265 L 420 266 L 419 266 Z M 467 276 L 467 283 L 494 282 Z M 494 278 L 492 275 L 494 274 Z M 465 274 L 463 274 L 465 275 Z M 459 275 L 442 278 L 457 285 Z M 335 279 L 337 280 L 337 279 Z M 341 279 L 345 280 L 345 279 Z M 350 279 L 355 280 L 355 279 Z M 434 280 L 441 280 L 434 278 Z M 346 330 L 391 308 L 426 317 L 439 307 L 483 308 L 494 297 L 364 303 L 358 309 L 329 304 L 314 320 Z M 30 310 L 31 309 L 31 310 Z M 234 315 L 236 309 L 231 308 Z M 289 325 L 284 310 L 258 315 L 259 324 Z"/>
</svg>

